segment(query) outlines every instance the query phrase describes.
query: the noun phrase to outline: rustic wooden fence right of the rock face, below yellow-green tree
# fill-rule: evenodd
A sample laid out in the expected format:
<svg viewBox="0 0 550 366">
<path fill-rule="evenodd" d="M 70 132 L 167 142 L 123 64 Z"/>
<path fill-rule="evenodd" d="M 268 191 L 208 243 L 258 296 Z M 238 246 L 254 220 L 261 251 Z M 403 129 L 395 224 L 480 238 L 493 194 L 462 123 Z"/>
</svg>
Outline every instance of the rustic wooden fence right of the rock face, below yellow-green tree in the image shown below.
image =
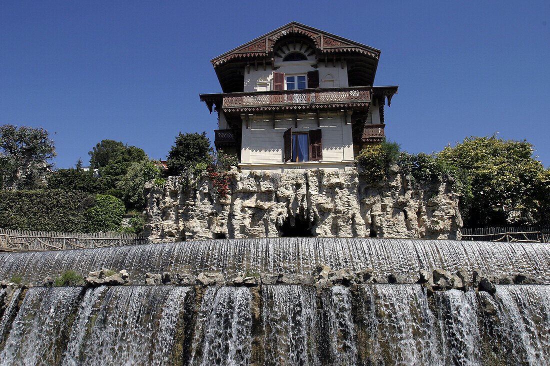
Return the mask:
<svg viewBox="0 0 550 366">
<path fill-rule="evenodd" d="M 514 226 L 509 228 L 462 228 L 462 240 L 550 242 L 550 226 Z"/>
</svg>

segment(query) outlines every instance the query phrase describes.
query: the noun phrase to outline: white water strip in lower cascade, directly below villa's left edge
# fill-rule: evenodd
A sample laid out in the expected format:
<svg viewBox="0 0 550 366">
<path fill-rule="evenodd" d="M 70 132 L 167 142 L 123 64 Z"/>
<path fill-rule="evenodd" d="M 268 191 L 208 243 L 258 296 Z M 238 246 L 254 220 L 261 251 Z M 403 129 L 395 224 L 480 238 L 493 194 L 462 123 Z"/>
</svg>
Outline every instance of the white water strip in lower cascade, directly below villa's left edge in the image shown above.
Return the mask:
<svg viewBox="0 0 550 366">
<path fill-rule="evenodd" d="M 252 296 L 246 287 L 209 287 L 195 326 L 191 365 L 248 365 Z"/>
</svg>

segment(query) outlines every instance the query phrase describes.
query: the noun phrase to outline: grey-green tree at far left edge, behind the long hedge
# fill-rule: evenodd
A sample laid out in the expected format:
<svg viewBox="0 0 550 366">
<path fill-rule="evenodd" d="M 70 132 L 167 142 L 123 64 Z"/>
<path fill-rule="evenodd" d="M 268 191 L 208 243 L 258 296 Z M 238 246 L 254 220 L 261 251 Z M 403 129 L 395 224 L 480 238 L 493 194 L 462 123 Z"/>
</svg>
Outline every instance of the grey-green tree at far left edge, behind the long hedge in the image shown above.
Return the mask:
<svg viewBox="0 0 550 366">
<path fill-rule="evenodd" d="M 42 127 L 0 126 L 0 182 L 3 189 L 32 189 L 43 184 L 56 147 Z"/>
</svg>

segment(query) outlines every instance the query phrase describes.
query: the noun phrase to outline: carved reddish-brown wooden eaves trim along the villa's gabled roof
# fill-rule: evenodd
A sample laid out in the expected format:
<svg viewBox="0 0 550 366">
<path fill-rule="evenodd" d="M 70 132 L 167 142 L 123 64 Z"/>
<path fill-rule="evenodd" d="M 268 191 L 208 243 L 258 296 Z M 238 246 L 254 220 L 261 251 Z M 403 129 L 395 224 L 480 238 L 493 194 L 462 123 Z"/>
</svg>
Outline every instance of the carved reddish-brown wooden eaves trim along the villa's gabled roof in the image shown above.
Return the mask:
<svg viewBox="0 0 550 366">
<path fill-rule="evenodd" d="M 380 50 L 339 37 L 293 21 L 255 40 L 245 43 L 211 60 L 214 67 L 235 59 L 267 58 L 273 61 L 273 51 L 278 40 L 296 35 L 305 36 L 315 44 L 319 54 L 355 53 L 378 60 Z"/>
</svg>

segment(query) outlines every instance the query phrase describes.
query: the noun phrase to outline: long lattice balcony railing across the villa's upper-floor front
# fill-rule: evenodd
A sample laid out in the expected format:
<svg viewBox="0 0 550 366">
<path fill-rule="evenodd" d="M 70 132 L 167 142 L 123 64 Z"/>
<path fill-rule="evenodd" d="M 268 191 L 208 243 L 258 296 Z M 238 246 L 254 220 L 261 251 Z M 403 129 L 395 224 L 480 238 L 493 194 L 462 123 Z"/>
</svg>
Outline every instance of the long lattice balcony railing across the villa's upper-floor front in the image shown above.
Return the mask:
<svg viewBox="0 0 550 366">
<path fill-rule="evenodd" d="M 223 96 L 224 110 L 270 110 L 321 106 L 353 107 L 370 102 L 370 87 L 279 90 L 231 93 Z"/>
</svg>

